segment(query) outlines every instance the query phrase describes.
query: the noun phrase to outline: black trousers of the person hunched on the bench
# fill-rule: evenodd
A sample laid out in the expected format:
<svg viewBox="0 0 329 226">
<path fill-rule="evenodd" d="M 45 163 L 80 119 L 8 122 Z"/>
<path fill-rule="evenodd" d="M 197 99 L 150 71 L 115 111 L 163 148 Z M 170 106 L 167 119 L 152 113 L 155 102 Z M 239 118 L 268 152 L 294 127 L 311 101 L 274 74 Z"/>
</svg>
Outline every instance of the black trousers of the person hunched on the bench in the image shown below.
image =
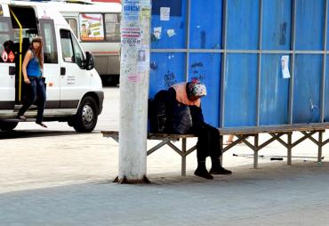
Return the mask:
<svg viewBox="0 0 329 226">
<path fill-rule="evenodd" d="M 197 132 L 197 161 L 203 162 L 209 156 L 212 160 L 221 156 L 221 139 L 217 128 L 204 125 Z"/>
</svg>

